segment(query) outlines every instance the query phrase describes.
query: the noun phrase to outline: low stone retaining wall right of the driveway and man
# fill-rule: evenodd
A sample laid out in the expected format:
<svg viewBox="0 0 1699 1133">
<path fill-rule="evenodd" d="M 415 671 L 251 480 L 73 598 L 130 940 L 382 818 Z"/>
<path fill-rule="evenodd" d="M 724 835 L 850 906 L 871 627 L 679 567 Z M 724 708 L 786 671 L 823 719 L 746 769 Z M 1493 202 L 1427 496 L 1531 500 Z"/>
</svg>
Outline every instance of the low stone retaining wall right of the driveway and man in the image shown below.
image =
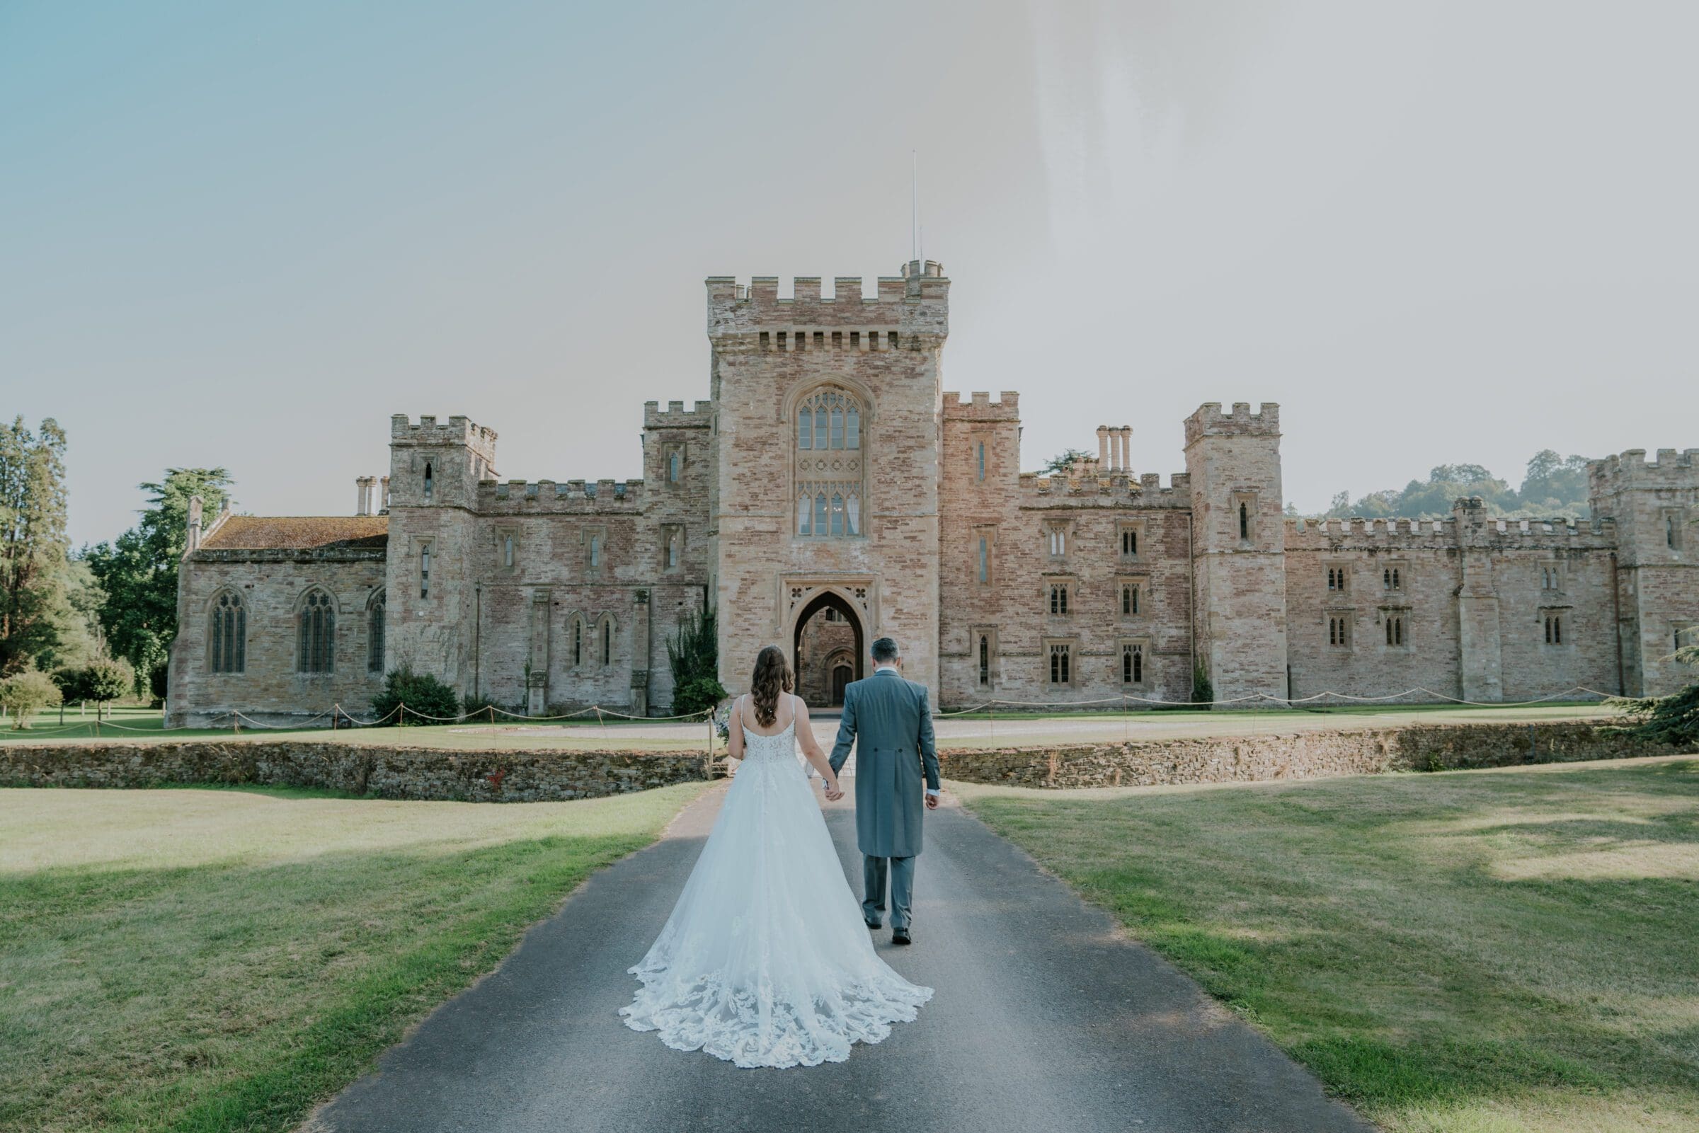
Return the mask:
<svg viewBox="0 0 1699 1133">
<path fill-rule="evenodd" d="M 1013 786 L 1154 786 L 1310 780 L 1380 771 L 1505 768 L 1668 756 L 1677 749 L 1611 736 L 1585 722 L 1407 724 L 1351 732 L 1216 736 L 1121 744 L 938 753 L 945 778 Z"/>
</svg>

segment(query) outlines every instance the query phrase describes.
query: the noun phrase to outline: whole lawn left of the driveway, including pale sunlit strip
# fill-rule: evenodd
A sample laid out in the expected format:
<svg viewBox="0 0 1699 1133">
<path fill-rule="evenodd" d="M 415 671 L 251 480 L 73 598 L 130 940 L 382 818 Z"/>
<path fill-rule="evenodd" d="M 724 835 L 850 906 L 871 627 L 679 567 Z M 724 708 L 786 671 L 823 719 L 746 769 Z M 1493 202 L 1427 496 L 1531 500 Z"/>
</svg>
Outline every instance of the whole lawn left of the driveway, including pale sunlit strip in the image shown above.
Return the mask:
<svg viewBox="0 0 1699 1133">
<path fill-rule="evenodd" d="M 292 1130 L 700 790 L 0 790 L 0 1130 Z"/>
</svg>

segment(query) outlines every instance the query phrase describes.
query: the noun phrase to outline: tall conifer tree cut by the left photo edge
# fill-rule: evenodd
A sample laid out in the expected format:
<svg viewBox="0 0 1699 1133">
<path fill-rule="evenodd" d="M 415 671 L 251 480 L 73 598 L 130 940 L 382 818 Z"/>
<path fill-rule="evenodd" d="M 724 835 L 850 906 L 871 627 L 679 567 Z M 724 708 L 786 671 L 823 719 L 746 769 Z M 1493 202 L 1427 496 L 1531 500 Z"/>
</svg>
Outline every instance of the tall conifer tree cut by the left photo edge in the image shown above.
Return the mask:
<svg viewBox="0 0 1699 1133">
<path fill-rule="evenodd" d="M 65 610 L 65 430 L 0 425 L 0 676 L 51 651 Z"/>
</svg>

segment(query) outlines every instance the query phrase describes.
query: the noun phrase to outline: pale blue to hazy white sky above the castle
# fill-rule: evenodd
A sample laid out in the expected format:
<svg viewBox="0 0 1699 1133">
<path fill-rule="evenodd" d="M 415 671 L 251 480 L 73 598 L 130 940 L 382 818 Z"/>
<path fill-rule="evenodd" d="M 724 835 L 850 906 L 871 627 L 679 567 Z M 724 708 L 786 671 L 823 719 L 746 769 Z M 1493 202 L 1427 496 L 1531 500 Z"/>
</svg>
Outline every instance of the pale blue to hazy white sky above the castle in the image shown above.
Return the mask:
<svg viewBox="0 0 1699 1133">
<path fill-rule="evenodd" d="M 228 465 L 353 510 L 391 413 L 639 474 L 705 275 L 951 287 L 1023 464 L 1283 406 L 1286 498 L 1699 445 L 1685 2 L 0 0 L 0 413 L 71 535 Z M 829 287 L 829 282 L 827 282 Z"/>
</svg>

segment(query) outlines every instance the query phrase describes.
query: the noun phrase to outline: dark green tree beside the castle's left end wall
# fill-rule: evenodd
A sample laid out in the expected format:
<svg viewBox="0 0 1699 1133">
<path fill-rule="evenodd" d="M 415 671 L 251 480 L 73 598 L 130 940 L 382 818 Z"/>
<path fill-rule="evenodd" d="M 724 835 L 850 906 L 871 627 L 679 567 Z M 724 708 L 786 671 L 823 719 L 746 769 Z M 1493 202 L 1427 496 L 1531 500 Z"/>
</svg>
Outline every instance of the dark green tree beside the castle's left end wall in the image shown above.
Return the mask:
<svg viewBox="0 0 1699 1133">
<path fill-rule="evenodd" d="M 217 515 L 233 484 L 226 469 L 167 469 L 161 482 L 141 484 L 148 493 L 141 521 L 88 550 L 88 567 L 105 591 L 100 625 L 107 644 L 150 686 L 177 637 L 177 564 L 189 542 L 189 498 L 200 496 L 207 515 Z"/>
</svg>

